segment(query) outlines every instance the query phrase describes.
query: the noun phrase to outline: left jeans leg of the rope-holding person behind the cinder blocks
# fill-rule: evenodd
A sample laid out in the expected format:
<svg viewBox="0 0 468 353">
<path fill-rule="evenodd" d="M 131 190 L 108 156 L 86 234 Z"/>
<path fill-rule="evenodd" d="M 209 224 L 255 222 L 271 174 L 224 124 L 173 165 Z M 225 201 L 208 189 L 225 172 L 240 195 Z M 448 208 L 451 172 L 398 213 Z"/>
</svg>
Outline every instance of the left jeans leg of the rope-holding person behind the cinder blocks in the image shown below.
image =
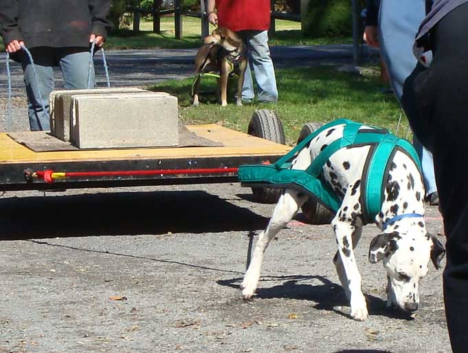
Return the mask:
<svg viewBox="0 0 468 353">
<path fill-rule="evenodd" d="M 30 129 L 49 130 L 49 94 L 54 90 L 54 53 L 50 47 L 35 47 L 30 52 L 34 61 L 35 76 L 29 56 L 26 53 L 21 54 Z"/>
</svg>

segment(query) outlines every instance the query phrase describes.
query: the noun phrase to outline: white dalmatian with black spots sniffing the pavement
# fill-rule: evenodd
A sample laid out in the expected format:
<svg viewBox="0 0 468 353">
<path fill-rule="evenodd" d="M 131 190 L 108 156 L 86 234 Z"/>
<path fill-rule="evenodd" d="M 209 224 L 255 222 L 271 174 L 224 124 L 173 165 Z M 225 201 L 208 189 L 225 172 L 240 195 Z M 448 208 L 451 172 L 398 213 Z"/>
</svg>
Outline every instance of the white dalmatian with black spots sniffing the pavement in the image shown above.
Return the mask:
<svg viewBox="0 0 468 353">
<path fill-rule="evenodd" d="M 324 129 L 302 149 L 291 162 L 291 169 L 304 170 L 331 142 L 342 138 L 343 125 Z M 359 129 L 375 129 L 362 126 Z M 383 202 L 375 220 L 366 222 L 361 202 L 361 178 L 368 166 L 366 156 L 369 145 L 357 145 L 338 149 L 323 167 L 324 180 L 339 195 L 342 204 L 331 222 L 337 243 L 333 258 L 339 280 L 350 301 L 353 319 L 368 318 L 366 299 L 361 291 L 361 275 L 357 268 L 353 249 L 361 237 L 362 227 L 375 222 L 381 230 L 370 243 L 370 263 L 383 262 L 386 269 L 387 307 L 414 312 L 419 306 L 419 281 L 427 274 L 429 260 L 439 268 L 445 255 L 441 242 L 426 231 L 424 220 L 424 186 L 414 160 L 403 151 L 394 153 L 388 174 L 384 178 Z M 383 167 L 382 167 L 383 168 Z M 296 189 L 286 189 L 274 208 L 265 231 L 261 232 L 252 261 L 241 284 L 245 299 L 254 296 L 260 279 L 263 254 L 275 235 L 284 228 L 309 195 Z M 411 214 L 411 217 L 405 215 Z"/>
</svg>

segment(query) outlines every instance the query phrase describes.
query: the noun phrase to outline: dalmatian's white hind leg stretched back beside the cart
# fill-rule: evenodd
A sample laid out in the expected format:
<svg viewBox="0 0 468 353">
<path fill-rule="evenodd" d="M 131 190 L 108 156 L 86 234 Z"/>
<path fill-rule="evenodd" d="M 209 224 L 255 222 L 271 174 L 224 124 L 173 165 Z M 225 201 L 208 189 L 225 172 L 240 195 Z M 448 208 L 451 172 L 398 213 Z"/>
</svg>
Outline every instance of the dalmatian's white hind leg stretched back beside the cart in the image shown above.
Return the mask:
<svg viewBox="0 0 468 353">
<path fill-rule="evenodd" d="M 241 284 L 242 295 L 245 299 L 251 298 L 255 294 L 260 279 L 260 268 L 262 266 L 263 254 L 271 239 L 291 221 L 299 208 L 307 201 L 307 196 L 298 191 L 287 189 L 276 204 L 273 215 L 265 231 L 258 235 L 258 241 L 254 249 L 252 261 L 245 272 L 244 280 Z"/>
</svg>

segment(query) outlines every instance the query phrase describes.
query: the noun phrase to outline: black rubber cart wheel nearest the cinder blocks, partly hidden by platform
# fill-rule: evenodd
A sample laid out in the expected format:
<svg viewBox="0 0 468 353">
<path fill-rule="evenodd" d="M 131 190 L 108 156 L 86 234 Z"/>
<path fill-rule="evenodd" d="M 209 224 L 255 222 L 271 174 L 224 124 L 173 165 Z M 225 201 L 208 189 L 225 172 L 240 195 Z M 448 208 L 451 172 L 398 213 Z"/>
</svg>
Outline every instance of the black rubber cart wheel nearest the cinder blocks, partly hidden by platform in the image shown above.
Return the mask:
<svg viewBox="0 0 468 353">
<path fill-rule="evenodd" d="M 251 136 L 265 138 L 265 140 L 285 145 L 285 131 L 282 128 L 282 122 L 271 110 L 256 110 L 250 119 L 247 133 Z M 254 201 L 262 204 L 278 202 L 282 191 L 283 189 L 252 188 Z"/>
</svg>

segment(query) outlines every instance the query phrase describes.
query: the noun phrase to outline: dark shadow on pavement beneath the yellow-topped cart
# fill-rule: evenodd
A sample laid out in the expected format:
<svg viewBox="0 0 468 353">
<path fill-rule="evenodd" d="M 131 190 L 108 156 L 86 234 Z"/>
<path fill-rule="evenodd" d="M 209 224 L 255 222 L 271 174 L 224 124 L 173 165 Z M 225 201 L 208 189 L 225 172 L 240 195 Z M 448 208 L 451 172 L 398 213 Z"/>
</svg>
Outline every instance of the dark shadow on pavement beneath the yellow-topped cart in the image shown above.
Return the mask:
<svg viewBox="0 0 468 353">
<path fill-rule="evenodd" d="M 0 240 L 256 231 L 267 218 L 204 191 L 0 199 Z"/>
</svg>

